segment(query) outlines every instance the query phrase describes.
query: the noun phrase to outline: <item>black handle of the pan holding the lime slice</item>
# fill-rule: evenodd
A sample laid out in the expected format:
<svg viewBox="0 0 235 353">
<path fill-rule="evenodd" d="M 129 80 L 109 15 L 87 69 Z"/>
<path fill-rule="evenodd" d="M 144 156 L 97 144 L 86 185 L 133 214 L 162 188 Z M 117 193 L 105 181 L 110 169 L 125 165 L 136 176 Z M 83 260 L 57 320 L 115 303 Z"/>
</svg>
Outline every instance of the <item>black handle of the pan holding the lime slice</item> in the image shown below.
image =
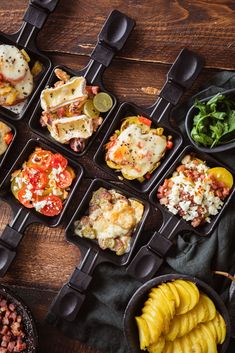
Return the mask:
<svg viewBox="0 0 235 353">
<path fill-rule="evenodd" d="M 113 10 L 106 19 L 91 60 L 84 76 L 93 83 L 107 68 L 113 57 L 120 51 L 135 27 L 135 21 L 118 10 Z"/>
</svg>

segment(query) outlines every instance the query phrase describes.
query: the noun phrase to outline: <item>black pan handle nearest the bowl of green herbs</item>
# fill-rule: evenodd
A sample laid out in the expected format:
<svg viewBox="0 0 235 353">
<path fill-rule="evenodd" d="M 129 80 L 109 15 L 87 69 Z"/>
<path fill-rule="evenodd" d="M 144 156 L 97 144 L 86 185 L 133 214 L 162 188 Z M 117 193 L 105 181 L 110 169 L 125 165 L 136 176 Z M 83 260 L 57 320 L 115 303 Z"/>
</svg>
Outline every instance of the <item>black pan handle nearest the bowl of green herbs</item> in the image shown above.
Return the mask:
<svg viewBox="0 0 235 353">
<path fill-rule="evenodd" d="M 169 121 L 171 109 L 179 102 L 184 91 L 191 87 L 204 64 L 203 58 L 184 48 L 167 73 L 167 80 L 156 103 L 149 110 L 156 123 Z"/>
</svg>

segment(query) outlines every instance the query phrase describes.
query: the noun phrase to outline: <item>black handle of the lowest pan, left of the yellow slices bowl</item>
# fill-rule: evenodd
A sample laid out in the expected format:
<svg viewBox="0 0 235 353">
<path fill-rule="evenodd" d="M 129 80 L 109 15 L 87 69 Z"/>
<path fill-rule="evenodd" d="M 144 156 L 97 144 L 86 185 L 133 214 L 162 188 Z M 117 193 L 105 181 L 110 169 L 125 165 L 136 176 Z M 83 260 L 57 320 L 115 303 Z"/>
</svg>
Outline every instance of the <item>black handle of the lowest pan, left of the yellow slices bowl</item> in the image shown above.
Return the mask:
<svg viewBox="0 0 235 353">
<path fill-rule="evenodd" d="M 64 284 L 51 303 L 46 320 L 55 322 L 58 318 L 74 321 L 86 297 L 86 291 L 91 283 L 91 273 L 99 261 L 99 252 L 86 249 L 85 256 L 72 273 L 69 281 Z"/>
</svg>

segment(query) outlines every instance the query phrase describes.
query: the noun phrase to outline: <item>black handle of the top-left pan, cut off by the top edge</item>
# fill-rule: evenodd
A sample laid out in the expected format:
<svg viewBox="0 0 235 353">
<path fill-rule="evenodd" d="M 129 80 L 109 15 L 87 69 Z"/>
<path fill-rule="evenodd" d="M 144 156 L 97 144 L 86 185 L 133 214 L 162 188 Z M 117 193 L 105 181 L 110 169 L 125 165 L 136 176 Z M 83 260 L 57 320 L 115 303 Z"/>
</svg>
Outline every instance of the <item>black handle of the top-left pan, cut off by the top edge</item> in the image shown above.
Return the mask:
<svg viewBox="0 0 235 353">
<path fill-rule="evenodd" d="M 36 36 L 58 3 L 59 0 L 30 0 L 23 17 L 23 25 L 17 33 L 12 35 L 14 41 L 22 47 L 31 47 L 36 50 Z"/>
</svg>

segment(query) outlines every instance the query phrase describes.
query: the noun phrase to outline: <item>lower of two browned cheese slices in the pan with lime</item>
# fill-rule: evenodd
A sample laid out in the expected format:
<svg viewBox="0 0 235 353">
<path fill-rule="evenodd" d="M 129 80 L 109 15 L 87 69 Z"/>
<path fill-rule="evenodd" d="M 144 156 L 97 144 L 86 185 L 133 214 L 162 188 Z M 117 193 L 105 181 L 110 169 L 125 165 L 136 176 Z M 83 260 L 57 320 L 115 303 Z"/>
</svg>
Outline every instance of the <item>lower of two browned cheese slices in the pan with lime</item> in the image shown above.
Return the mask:
<svg viewBox="0 0 235 353">
<path fill-rule="evenodd" d="M 55 140 L 66 143 L 72 138 L 90 137 L 93 133 L 93 124 L 92 119 L 86 115 L 80 115 L 53 120 L 51 127 L 48 125 L 48 129 Z"/>
</svg>

